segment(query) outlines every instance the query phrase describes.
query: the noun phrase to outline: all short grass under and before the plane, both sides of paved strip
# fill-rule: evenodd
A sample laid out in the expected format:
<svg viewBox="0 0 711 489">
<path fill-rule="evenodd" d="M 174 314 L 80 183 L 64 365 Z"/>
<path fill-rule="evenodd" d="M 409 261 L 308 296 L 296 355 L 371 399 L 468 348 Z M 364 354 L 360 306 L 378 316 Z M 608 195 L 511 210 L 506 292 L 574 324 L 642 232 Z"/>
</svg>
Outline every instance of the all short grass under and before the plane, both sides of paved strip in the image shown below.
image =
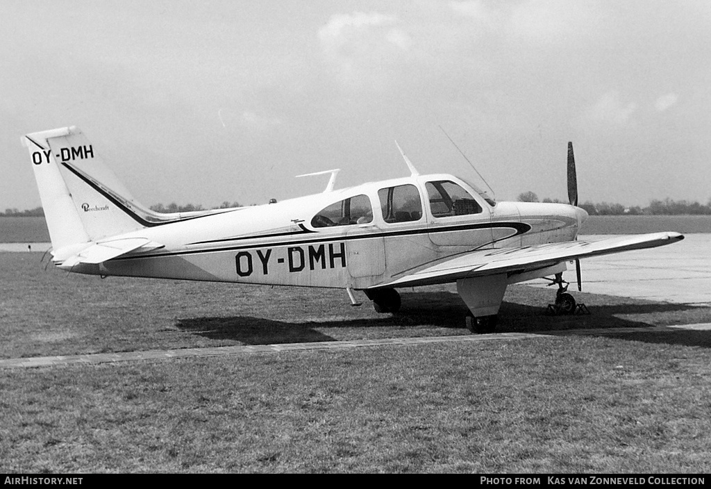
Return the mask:
<svg viewBox="0 0 711 489">
<path fill-rule="evenodd" d="M 0 253 L 0 358 L 469 334 L 449 286 L 343 291 L 65 274 Z M 707 307 L 512 286 L 499 331 L 711 322 Z M 0 370 L 0 472 L 705 473 L 711 332 Z"/>
</svg>

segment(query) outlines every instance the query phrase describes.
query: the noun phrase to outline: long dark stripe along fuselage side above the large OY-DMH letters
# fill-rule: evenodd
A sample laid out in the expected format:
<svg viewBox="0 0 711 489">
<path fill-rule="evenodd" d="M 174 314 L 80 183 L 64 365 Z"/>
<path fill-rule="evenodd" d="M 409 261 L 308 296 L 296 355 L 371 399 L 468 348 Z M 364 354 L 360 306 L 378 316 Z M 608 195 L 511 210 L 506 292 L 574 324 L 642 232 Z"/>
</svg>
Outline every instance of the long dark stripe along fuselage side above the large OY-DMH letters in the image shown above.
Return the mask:
<svg viewBox="0 0 711 489">
<path fill-rule="evenodd" d="M 468 230 L 479 230 L 479 229 L 493 229 L 496 227 L 508 227 L 510 229 L 516 230 L 514 235 L 510 235 L 508 238 L 512 238 L 518 235 L 523 235 L 523 233 L 528 232 L 531 227 L 525 222 L 482 222 L 479 224 L 462 224 L 455 226 L 439 227 L 439 228 L 429 228 L 420 227 L 414 230 L 401 230 L 401 231 L 385 231 L 385 232 L 374 232 L 368 235 L 351 235 L 351 236 L 323 236 L 323 237 L 313 237 L 309 240 L 290 240 L 281 242 L 265 242 L 265 243 L 255 243 L 255 244 L 242 244 L 238 246 L 228 246 L 220 248 L 208 248 L 208 249 L 191 249 L 181 252 L 167 252 L 167 253 L 157 253 L 157 254 L 144 254 L 139 257 L 119 257 L 114 260 L 125 260 L 125 259 L 143 259 L 143 258 L 157 258 L 157 257 L 174 257 L 183 254 L 197 254 L 197 253 L 215 253 L 215 252 L 229 252 L 236 251 L 239 249 L 253 249 L 253 248 L 277 248 L 282 246 L 294 246 L 299 244 L 312 244 L 312 243 L 324 243 L 333 241 L 352 241 L 352 240 L 372 240 L 380 237 L 400 237 L 400 236 L 412 236 L 412 235 L 429 235 L 432 233 L 439 232 L 452 232 L 452 231 L 468 231 Z M 306 230 L 302 226 L 302 229 Z M 307 230 L 308 231 L 308 230 Z M 292 235 L 301 235 L 304 231 L 295 231 Z M 313 232 L 313 231 L 311 231 Z M 239 240 L 247 239 L 260 239 L 260 237 L 241 237 Z M 501 241 L 501 240 L 497 240 Z M 113 260 L 112 260 L 113 261 Z"/>
</svg>

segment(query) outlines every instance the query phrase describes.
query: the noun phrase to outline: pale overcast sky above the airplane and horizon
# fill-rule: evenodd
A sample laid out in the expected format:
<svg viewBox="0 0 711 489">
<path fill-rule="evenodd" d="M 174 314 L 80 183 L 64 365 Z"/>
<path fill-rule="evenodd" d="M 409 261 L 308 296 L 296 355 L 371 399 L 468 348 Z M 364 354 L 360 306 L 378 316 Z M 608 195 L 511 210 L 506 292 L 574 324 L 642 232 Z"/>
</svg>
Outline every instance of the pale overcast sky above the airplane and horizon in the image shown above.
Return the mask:
<svg viewBox="0 0 711 489">
<path fill-rule="evenodd" d="M 265 203 L 409 171 L 498 200 L 711 197 L 711 2 L 0 2 L 0 210 L 23 134 L 76 125 L 146 205 Z"/>
</svg>

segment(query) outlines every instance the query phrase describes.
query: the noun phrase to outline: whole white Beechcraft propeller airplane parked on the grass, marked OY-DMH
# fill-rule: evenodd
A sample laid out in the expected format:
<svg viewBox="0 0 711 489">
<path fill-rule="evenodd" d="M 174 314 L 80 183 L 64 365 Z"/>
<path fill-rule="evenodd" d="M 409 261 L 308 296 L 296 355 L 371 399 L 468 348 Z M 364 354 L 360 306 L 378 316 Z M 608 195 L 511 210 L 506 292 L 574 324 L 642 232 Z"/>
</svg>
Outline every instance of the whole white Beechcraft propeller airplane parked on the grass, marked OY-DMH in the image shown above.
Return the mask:
<svg viewBox="0 0 711 489">
<path fill-rule="evenodd" d="M 553 277 L 555 308 L 574 313 L 567 262 L 671 244 L 678 232 L 578 240 L 568 144 L 570 203 L 496 202 L 465 178 L 420 175 L 250 207 L 156 213 L 141 205 L 76 127 L 27 134 L 59 269 L 100 276 L 223 281 L 362 291 L 379 313 L 400 310 L 398 288 L 456 282 L 466 326 L 491 333 L 509 284 Z M 398 146 L 400 149 L 400 146 Z"/>
</svg>

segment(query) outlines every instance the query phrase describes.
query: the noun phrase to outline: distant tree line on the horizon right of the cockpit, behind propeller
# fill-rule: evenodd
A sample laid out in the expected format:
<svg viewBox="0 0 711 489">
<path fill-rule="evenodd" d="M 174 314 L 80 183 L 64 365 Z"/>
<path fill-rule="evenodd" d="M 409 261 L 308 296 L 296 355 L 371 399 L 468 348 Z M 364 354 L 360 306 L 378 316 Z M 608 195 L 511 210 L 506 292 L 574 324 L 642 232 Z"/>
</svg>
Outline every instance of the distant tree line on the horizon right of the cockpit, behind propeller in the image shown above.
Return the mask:
<svg viewBox="0 0 711 489">
<path fill-rule="evenodd" d="M 539 202 L 538 195 L 531 192 L 518 194 L 519 202 Z M 567 203 L 565 200 L 545 198 L 542 202 Z M 711 199 L 706 205 L 698 202 L 688 202 L 687 200 L 652 200 L 647 207 L 633 205 L 626 207 L 618 203 L 592 203 L 586 200 L 579 204 L 579 207 L 587 211 L 589 215 L 711 215 Z"/>
</svg>

